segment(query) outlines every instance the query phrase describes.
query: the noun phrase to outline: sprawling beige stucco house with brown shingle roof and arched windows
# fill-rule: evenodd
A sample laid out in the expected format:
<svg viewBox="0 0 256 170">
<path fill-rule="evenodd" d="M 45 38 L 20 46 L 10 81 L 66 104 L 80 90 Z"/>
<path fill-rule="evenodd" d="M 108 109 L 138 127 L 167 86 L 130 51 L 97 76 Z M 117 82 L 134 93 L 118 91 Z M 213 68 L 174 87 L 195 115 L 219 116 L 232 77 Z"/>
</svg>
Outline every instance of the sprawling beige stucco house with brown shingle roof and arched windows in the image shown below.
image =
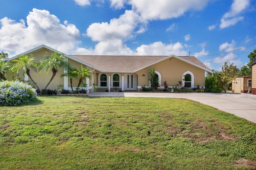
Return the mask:
<svg viewBox="0 0 256 170">
<path fill-rule="evenodd" d="M 164 81 L 168 83 L 169 87 L 176 86 L 178 81 L 182 81 L 182 86 L 190 88 L 194 88 L 196 85 L 204 87 L 205 72 L 212 73 L 206 65 L 193 56 L 66 55 L 46 45 L 40 45 L 20 55 L 32 53 L 39 62 L 45 54 L 50 55 L 52 51 L 67 57 L 71 67 L 78 68 L 82 64 L 83 67 L 92 71 L 92 79 L 86 79 L 85 83 L 89 86 L 87 89 L 91 89 L 93 83 L 98 84 L 98 91 L 114 91 L 113 87 L 118 87 L 122 91 L 140 91 L 142 86 L 150 85 L 149 72 L 152 68 L 156 69 L 159 88 L 164 88 Z M 14 56 L 8 60 L 12 61 L 16 58 L 17 56 Z M 59 84 L 64 84 L 65 89 L 71 90 L 69 78 L 60 77 L 64 72 L 63 68 L 58 71 L 48 86 L 49 89 L 57 89 Z M 22 73 L 19 75 L 20 78 L 28 80 L 27 75 L 22 75 Z M 46 74 L 44 70 L 38 73 L 31 70 L 30 75 L 43 89 L 50 80 L 52 73 L 49 71 Z M 184 79 L 185 75 L 188 79 Z M 10 79 L 12 74 L 8 73 L 7 77 Z M 73 79 L 73 87 L 76 87 L 77 84 L 78 79 Z"/>
</svg>

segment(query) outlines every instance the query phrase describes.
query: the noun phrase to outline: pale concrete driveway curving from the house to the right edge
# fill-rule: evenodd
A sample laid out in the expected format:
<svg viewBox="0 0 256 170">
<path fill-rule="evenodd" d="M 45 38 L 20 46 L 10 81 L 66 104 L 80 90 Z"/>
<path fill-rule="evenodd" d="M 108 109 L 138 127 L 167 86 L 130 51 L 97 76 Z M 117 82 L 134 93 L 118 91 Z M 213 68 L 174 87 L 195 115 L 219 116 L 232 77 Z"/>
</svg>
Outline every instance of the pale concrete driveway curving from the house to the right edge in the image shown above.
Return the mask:
<svg viewBox="0 0 256 170">
<path fill-rule="evenodd" d="M 218 110 L 234 114 L 248 121 L 256 123 L 256 99 L 243 98 L 234 93 L 139 93 L 139 92 L 93 92 L 88 96 L 102 97 L 165 97 L 183 98 L 212 106 Z"/>
</svg>

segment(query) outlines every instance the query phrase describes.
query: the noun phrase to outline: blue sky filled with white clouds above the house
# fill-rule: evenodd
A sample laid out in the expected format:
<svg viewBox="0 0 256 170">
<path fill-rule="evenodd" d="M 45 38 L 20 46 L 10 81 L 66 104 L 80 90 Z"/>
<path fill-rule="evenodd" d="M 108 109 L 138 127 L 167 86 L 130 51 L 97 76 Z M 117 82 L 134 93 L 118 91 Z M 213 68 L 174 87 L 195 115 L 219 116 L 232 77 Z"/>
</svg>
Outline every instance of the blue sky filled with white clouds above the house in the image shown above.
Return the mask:
<svg viewBox="0 0 256 170">
<path fill-rule="evenodd" d="M 0 0 L 0 51 L 190 55 L 238 68 L 256 49 L 256 0 Z"/>
</svg>

